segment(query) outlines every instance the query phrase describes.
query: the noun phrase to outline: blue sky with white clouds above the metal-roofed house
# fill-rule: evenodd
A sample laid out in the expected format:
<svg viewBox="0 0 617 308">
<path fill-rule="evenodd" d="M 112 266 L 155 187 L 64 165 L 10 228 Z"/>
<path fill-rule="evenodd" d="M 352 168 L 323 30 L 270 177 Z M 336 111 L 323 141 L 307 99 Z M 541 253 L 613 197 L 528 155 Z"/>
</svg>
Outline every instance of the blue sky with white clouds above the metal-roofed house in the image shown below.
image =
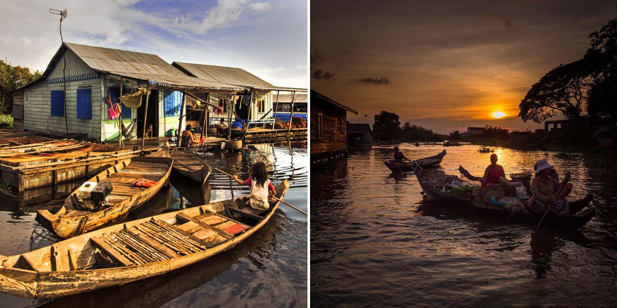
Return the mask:
<svg viewBox="0 0 617 308">
<path fill-rule="evenodd" d="M 307 87 L 306 0 L 2 1 L 0 57 L 43 70 L 64 41 L 157 54 L 171 63 L 244 68 Z"/>
</svg>

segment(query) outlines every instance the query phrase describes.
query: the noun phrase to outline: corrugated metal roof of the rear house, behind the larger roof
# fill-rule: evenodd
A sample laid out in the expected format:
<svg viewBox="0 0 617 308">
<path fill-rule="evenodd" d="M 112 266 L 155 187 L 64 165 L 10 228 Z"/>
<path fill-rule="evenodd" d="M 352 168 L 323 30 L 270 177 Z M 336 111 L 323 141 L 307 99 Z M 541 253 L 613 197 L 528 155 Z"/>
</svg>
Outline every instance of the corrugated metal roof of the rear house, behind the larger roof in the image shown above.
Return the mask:
<svg viewBox="0 0 617 308">
<path fill-rule="evenodd" d="M 267 81 L 237 67 L 219 67 L 197 63 L 173 62 L 172 65 L 180 68 L 187 75 L 197 78 L 218 81 L 220 83 L 236 84 L 248 87 L 275 87 Z"/>
</svg>

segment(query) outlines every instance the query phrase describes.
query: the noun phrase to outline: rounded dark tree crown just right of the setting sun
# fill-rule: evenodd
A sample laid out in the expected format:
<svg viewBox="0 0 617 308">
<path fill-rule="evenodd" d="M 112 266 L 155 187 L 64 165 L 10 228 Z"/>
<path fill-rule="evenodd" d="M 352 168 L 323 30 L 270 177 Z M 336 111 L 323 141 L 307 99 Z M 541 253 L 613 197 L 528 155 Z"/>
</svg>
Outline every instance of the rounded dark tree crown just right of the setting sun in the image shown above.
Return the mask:
<svg viewBox="0 0 617 308">
<path fill-rule="evenodd" d="M 582 105 L 590 86 L 590 70 L 586 59 L 560 64 L 531 86 L 518 105 L 518 116 L 536 123 L 561 112 L 566 118 L 581 116 Z"/>
</svg>

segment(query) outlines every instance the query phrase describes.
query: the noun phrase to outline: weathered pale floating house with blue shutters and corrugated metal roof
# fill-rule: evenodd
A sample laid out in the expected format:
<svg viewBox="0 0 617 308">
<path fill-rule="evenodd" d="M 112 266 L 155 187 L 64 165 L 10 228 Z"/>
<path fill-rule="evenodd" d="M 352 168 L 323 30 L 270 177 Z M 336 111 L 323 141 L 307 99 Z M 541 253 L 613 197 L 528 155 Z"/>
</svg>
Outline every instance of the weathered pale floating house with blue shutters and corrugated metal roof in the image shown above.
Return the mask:
<svg viewBox="0 0 617 308">
<path fill-rule="evenodd" d="M 171 65 L 143 52 L 64 43 L 41 78 L 14 92 L 15 128 L 85 134 L 90 140 L 110 142 L 120 136 L 141 137 L 145 122 L 152 124 L 154 137 L 170 137 L 184 127 L 188 99 L 204 100 L 205 96 L 203 106 L 213 105 L 211 109 L 217 110 L 231 106 L 233 97 L 244 102 L 252 95 L 255 105 L 251 119 L 260 119 L 271 112 L 271 91 L 281 90 L 241 69 L 204 66 L 211 72 L 199 74 L 207 76 L 205 79 L 178 68 L 184 64 Z M 194 66 L 188 67 L 194 70 Z M 230 76 L 230 72 L 235 73 Z M 242 86 L 247 75 L 254 78 Z M 140 90 L 140 103 L 118 107 L 121 94 Z M 121 117 L 122 125 L 117 117 Z"/>
</svg>

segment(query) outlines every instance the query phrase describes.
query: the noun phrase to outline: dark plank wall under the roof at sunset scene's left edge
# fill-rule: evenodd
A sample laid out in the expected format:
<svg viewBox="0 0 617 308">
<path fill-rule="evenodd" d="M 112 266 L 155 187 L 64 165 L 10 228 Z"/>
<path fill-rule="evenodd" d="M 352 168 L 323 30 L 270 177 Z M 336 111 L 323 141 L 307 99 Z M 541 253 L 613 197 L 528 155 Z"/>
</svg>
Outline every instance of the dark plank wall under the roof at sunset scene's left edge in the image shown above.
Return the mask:
<svg viewBox="0 0 617 308">
<path fill-rule="evenodd" d="M 331 103 L 311 97 L 310 102 L 310 153 L 311 156 L 329 152 L 347 151 L 347 111 Z M 322 115 L 321 139 L 318 138 L 318 115 Z"/>
</svg>

